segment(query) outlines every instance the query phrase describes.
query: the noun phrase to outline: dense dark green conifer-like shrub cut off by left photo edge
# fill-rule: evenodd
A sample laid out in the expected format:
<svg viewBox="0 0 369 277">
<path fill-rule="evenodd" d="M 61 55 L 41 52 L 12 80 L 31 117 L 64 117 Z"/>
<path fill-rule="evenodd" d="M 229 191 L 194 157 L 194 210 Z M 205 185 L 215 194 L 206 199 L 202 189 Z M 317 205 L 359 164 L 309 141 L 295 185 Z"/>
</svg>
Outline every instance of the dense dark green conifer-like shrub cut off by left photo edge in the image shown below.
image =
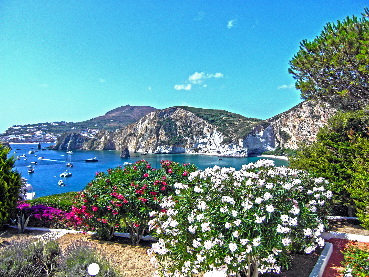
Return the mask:
<svg viewBox="0 0 369 277">
<path fill-rule="evenodd" d="M 19 198 L 21 175 L 12 170 L 14 155 L 7 158 L 10 148 L 0 145 L 0 226 L 9 219 Z"/>
</svg>

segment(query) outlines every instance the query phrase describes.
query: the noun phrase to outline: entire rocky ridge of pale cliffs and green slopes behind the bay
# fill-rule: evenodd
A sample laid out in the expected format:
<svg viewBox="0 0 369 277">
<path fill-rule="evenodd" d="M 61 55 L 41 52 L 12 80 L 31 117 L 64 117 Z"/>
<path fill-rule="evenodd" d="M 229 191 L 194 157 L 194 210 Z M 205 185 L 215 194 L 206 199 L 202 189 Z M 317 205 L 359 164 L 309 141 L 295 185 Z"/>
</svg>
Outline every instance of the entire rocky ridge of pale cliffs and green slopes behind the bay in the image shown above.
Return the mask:
<svg viewBox="0 0 369 277">
<path fill-rule="evenodd" d="M 249 157 L 277 146 L 297 148 L 314 141 L 334 110 L 304 101 L 268 120 L 253 119 L 225 110 L 176 106 L 146 114 L 119 131 L 101 130 L 95 138 L 66 133 L 54 149 L 129 148 L 148 153 L 214 153 Z"/>
</svg>

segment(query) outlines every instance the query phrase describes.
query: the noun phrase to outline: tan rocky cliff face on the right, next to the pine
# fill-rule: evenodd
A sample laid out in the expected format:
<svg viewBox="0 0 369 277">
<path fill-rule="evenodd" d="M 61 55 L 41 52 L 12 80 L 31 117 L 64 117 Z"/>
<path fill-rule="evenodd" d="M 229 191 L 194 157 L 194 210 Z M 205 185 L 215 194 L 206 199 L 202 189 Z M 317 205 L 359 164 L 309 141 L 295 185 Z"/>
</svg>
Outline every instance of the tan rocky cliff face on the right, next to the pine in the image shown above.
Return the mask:
<svg viewBox="0 0 369 277">
<path fill-rule="evenodd" d="M 276 146 L 297 149 L 300 142 L 310 144 L 315 141 L 319 128 L 326 125 L 335 112 L 337 110 L 328 104 L 304 101 L 266 122 L 274 130 Z"/>
</svg>

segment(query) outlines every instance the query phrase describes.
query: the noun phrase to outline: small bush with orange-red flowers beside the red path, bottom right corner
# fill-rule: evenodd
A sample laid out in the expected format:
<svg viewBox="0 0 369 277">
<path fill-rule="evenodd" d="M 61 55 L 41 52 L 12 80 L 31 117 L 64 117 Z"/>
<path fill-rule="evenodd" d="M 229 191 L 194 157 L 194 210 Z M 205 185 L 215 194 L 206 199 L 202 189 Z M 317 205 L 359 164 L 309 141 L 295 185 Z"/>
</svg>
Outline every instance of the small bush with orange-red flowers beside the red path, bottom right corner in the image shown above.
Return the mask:
<svg viewBox="0 0 369 277">
<path fill-rule="evenodd" d="M 369 277 L 368 244 L 360 248 L 358 242 L 350 242 L 341 252 L 345 258 L 345 261 L 342 261 L 342 265 L 345 267 L 344 277 Z"/>
</svg>

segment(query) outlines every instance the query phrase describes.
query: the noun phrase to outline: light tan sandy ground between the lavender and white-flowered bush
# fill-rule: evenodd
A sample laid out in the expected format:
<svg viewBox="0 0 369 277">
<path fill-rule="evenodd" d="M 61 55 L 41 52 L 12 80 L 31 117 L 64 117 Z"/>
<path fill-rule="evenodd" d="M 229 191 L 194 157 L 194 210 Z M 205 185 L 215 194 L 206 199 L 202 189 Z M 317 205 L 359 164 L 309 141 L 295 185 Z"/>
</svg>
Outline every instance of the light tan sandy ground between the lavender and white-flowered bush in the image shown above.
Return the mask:
<svg viewBox="0 0 369 277">
<path fill-rule="evenodd" d="M 113 255 L 115 262 L 125 277 L 152 277 L 152 274 L 156 270 L 147 254 L 151 243 L 142 242 L 140 246 L 132 246 L 129 244 L 129 240 L 115 237 L 111 242 L 103 242 L 93 239 L 90 235 L 83 235 L 82 233 L 66 234 L 58 240 L 63 250 L 69 243 L 73 243 L 73 241 L 79 239 L 91 241 L 103 253 L 109 256 Z"/>
</svg>

